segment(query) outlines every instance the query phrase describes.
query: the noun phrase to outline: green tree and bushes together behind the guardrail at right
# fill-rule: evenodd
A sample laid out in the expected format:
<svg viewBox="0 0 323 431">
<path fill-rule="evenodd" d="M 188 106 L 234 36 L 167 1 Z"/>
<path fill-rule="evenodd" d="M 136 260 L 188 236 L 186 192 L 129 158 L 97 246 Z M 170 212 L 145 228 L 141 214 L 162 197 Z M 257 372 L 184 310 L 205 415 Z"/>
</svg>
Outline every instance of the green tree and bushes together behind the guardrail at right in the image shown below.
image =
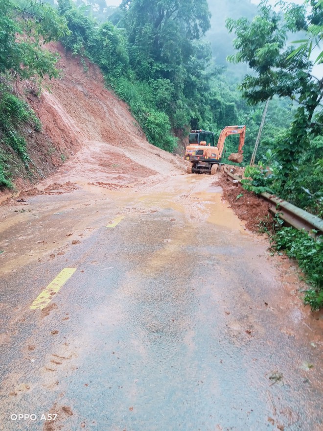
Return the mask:
<svg viewBox="0 0 323 431">
<path fill-rule="evenodd" d="M 318 39 L 322 37 L 322 4 L 322 0 L 311 0 L 303 6 L 287 5 L 284 14 L 263 4 L 252 22 L 239 19 L 228 20 L 227 24 L 236 33 L 234 46 L 238 50 L 231 60 L 245 62 L 254 71 L 240 85 L 248 102 L 257 104 L 277 95 L 289 97 L 298 105 L 288 130 L 282 130 L 270 143 L 274 150 L 270 181 L 261 166 L 260 175 L 271 183 L 273 192 L 320 215 L 323 213 L 323 78 L 312 75 L 311 43 L 294 49 L 286 41 L 288 32 L 300 30 L 307 32 L 309 38 L 313 32 Z M 323 58 L 319 56 L 316 61 L 320 63 Z"/>
</svg>

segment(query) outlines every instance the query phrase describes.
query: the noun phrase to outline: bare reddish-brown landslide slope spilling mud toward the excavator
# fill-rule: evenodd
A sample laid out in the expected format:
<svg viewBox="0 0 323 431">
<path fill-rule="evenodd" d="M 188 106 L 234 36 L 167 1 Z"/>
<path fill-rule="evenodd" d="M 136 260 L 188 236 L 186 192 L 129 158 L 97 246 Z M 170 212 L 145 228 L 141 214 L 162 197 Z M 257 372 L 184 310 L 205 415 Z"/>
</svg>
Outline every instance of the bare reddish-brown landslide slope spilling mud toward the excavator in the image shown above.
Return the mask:
<svg viewBox="0 0 323 431">
<path fill-rule="evenodd" d="M 72 172 L 71 165 L 65 162 L 67 181 L 77 182 L 81 174 L 86 182 L 101 182 L 108 187 L 122 185 L 123 181 L 134 183 L 158 173 L 178 173 L 183 168 L 179 156 L 147 142 L 128 106 L 104 88 L 96 66 L 88 63 L 85 72 L 79 59 L 66 54 L 61 45 L 51 44 L 50 48 L 61 55 L 58 68 L 62 77 L 48 81 L 40 98 L 27 96 L 43 130 L 30 131 L 28 151 L 36 168 L 29 178 L 16 178 L 18 190 L 51 175 L 70 157 L 76 157 L 77 167 Z M 84 163 L 93 165 L 86 178 Z"/>
</svg>

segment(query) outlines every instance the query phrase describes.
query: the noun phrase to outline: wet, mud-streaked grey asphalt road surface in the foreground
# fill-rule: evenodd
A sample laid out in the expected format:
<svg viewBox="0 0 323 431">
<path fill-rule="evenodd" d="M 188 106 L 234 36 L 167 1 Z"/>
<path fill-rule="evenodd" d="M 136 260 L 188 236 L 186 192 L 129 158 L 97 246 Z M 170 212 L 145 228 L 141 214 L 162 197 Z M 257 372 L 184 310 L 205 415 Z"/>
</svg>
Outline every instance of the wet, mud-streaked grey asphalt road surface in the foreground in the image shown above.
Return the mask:
<svg viewBox="0 0 323 431">
<path fill-rule="evenodd" d="M 0 430 L 323 430 L 322 346 L 219 192 L 193 175 L 120 197 L 65 255 L 3 274 Z"/>
</svg>

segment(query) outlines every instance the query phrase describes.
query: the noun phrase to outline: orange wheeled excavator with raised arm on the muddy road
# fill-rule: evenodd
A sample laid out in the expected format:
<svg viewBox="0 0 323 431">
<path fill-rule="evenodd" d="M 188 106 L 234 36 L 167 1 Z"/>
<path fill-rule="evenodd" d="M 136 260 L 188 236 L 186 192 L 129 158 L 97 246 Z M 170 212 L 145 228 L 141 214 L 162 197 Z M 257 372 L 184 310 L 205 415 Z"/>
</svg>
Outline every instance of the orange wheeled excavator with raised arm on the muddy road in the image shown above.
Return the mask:
<svg viewBox="0 0 323 431">
<path fill-rule="evenodd" d="M 185 160 L 190 164 L 187 173 L 209 173 L 211 175 L 223 165 L 221 164 L 224 143 L 229 135 L 239 135 L 237 153 L 228 157 L 231 162 L 241 163 L 243 160 L 242 147 L 245 143 L 246 126 L 227 126 L 219 136 L 215 146 L 214 133 L 207 130 L 192 130 L 188 136 L 188 145 L 185 150 Z"/>
</svg>

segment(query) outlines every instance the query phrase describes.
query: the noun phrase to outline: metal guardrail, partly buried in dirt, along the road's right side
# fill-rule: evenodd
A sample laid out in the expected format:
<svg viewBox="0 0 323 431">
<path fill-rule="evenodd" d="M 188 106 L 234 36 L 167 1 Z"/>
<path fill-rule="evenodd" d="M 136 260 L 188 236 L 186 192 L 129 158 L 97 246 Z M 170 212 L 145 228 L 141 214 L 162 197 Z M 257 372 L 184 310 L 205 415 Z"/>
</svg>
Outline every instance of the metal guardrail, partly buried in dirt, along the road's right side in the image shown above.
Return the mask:
<svg viewBox="0 0 323 431">
<path fill-rule="evenodd" d="M 232 174 L 227 169 L 224 169 L 224 172 L 232 182 L 241 183 L 240 177 Z M 314 216 L 275 195 L 260 193 L 258 196 L 261 196 L 269 203 L 269 211 L 273 214 L 278 214 L 289 226 L 293 226 L 296 229 L 305 229 L 317 238 L 323 235 L 322 218 Z"/>
</svg>

